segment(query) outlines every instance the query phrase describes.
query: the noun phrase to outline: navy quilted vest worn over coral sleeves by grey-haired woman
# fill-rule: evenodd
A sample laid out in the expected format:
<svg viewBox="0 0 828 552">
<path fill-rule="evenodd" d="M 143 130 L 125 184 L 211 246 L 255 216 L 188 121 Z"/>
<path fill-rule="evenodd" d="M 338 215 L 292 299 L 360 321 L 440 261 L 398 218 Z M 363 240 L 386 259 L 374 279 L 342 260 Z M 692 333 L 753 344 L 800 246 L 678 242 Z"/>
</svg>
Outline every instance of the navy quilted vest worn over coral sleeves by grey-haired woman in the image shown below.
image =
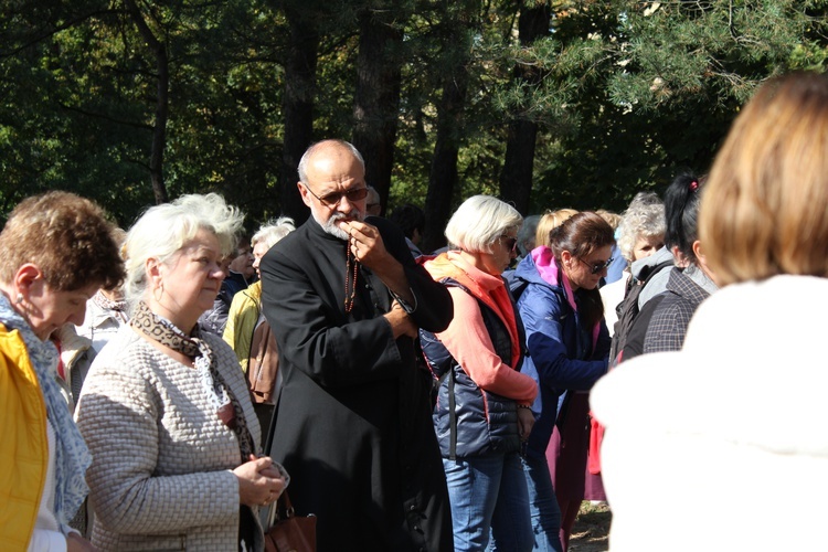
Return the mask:
<svg viewBox="0 0 828 552">
<path fill-rule="evenodd" d="M 468 293 L 450 278 L 442 283 Z M 495 351 L 503 363 L 511 362 L 509 331 L 495 311 L 479 299 L 477 302 Z M 523 342 L 524 332 L 517 308 L 514 317 Z M 478 388 L 434 333 L 420 330 L 420 343 L 428 367 L 439 380 L 433 420 L 443 457 L 455 459 L 519 450 L 518 403 Z"/>
</svg>

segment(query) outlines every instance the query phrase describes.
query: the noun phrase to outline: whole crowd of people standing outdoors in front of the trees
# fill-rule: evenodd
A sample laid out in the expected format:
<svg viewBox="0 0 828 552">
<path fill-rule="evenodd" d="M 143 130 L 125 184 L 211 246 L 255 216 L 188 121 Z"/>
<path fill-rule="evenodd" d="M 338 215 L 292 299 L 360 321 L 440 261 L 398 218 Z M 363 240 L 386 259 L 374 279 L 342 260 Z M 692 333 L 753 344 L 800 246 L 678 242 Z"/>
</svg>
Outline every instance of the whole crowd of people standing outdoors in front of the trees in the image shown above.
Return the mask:
<svg viewBox="0 0 828 552">
<path fill-rule="evenodd" d="M 310 217 L 251 238 L 214 193 L 126 232 L 29 198 L 0 233 L 0 543 L 263 551 L 289 486 L 322 552 L 563 552 L 585 499 L 613 551 L 818 548 L 826 160 L 828 78 L 795 73 L 664 200 L 475 195 L 432 254 L 342 140 L 299 162 Z"/>
</svg>

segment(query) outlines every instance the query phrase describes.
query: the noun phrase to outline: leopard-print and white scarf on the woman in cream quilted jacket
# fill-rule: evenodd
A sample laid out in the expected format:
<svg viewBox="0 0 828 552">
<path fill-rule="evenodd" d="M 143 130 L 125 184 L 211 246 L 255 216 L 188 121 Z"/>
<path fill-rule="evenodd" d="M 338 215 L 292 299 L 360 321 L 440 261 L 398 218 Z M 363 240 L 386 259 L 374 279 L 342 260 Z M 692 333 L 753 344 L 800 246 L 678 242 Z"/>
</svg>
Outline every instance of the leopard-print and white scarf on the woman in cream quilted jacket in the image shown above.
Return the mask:
<svg viewBox="0 0 828 552">
<path fill-rule="evenodd" d="M 206 341 L 201 339 L 199 325 L 195 325 L 191 336 L 187 336 L 171 321 L 152 312 L 144 301 L 140 301 L 136 307 L 129 323 L 149 339 L 193 359 L 204 393 L 215 407 L 216 415 L 224 425 L 233 429 L 238 438 L 242 464 L 248 461 L 250 455 L 255 454 L 256 450 L 253 436 L 247 428 L 244 411 L 219 373 L 213 350 Z"/>
</svg>

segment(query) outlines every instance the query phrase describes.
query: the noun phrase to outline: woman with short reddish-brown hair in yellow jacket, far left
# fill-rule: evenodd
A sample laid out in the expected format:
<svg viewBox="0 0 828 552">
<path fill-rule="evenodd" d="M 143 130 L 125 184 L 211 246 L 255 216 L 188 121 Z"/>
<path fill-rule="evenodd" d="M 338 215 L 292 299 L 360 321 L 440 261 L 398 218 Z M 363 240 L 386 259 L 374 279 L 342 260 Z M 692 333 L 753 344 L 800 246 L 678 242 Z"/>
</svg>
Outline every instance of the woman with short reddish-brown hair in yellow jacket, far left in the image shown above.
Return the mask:
<svg viewBox="0 0 828 552">
<path fill-rule="evenodd" d="M 68 528 L 91 458 L 55 382 L 49 336 L 81 325 L 86 300 L 124 277 L 113 226 L 88 200 L 22 201 L 0 233 L 0 543 L 3 550 L 92 550 Z"/>
</svg>

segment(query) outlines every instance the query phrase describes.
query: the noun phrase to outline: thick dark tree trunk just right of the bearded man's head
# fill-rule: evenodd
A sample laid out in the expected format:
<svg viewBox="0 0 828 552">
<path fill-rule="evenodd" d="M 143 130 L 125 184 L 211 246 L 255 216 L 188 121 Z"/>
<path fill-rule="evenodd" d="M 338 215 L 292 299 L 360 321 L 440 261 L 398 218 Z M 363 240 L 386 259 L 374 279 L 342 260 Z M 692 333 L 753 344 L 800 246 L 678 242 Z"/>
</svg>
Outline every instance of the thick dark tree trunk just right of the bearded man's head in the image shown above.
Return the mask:
<svg viewBox="0 0 828 552">
<path fill-rule="evenodd" d="M 402 32 L 394 2 L 359 14 L 360 43 L 353 105 L 353 145 L 365 159 L 365 181 L 380 192 L 384 209 L 391 188 L 400 107 Z"/>
</svg>

